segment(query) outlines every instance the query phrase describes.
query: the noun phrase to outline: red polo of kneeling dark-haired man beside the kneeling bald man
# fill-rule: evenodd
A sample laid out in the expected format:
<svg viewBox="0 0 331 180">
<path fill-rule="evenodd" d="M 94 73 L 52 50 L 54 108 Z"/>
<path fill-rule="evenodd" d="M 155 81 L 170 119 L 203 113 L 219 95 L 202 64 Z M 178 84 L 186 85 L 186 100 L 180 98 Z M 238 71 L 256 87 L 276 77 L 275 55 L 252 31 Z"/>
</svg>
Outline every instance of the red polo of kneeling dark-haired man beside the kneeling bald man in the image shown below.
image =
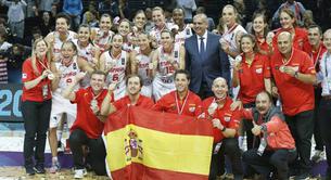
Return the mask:
<svg viewBox="0 0 331 180">
<path fill-rule="evenodd" d="M 195 93 L 188 91 L 187 97 L 180 100 L 177 91 L 173 91 L 162 97 L 153 106 L 153 110 L 179 115 L 199 116 L 202 113 L 201 99 Z"/>
</svg>

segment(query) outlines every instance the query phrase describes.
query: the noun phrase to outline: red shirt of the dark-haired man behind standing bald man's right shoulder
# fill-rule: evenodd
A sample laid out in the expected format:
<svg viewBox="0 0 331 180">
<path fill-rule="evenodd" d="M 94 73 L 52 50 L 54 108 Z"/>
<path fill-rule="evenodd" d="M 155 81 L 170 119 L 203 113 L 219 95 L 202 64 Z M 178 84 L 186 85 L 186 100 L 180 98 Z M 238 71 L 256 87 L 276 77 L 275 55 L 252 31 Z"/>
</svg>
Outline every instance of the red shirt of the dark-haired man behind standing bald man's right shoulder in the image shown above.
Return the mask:
<svg viewBox="0 0 331 180">
<path fill-rule="evenodd" d="M 320 63 L 320 61 L 322 59 L 323 53 L 327 52 L 326 46 L 322 42 L 320 42 L 318 49 L 315 51 L 315 50 L 313 50 L 313 47 L 310 46 L 310 43 L 306 42 L 304 44 L 304 51 L 306 53 L 308 53 L 308 55 L 313 60 L 315 69 L 318 73 L 319 72 L 319 63 Z"/>
</svg>

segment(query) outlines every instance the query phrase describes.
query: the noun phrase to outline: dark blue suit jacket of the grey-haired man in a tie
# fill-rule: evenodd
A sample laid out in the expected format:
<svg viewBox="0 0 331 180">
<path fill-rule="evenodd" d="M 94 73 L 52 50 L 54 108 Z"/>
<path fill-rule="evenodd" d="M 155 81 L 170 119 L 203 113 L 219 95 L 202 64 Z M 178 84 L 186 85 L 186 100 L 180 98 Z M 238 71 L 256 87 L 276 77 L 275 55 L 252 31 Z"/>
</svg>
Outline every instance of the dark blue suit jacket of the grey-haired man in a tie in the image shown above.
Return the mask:
<svg viewBox="0 0 331 180">
<path fill-rule="evenodd" d="M 213 80 L 224 77 L 230 82 L 230 62 L 228 55 L 221 50 L 220 36 L 207 33 L 205 53 L 201 55 L 198 48 L 196 35 L 186 39 L 186 68 L 191 74 L 190 90 L 200 91 L 202 81 L 205 81 L 211 91 Z"/>
</svg>

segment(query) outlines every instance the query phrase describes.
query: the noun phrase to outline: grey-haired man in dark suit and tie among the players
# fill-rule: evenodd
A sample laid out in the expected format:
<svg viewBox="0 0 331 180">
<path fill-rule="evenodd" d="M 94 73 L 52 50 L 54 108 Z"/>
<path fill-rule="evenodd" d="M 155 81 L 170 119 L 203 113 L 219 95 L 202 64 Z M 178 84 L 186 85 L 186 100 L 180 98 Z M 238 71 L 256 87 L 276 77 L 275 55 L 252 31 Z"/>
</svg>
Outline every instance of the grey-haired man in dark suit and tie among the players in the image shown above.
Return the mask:
<svg viewBox="0 0 331 180">
<path fill-rule="evenodd" d="M 221 50 L 220 36 L 207 31 L 208 20 L 205 14 L 193 17 L 194 36 L 186 39 L 186 67 L 191 74 L 190 90 L 201 99 L 212 97 L 212 85 L 216 77 L 230 81 L 230 63 Z"/>
</svg>

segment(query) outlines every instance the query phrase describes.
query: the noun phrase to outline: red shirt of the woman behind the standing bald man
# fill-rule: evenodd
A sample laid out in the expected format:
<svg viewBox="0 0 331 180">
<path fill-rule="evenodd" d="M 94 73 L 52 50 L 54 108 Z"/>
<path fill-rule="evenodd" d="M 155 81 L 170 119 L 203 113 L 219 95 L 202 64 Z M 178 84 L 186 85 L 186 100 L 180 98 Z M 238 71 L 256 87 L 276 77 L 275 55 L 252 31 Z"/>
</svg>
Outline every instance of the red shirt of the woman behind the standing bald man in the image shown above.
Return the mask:
<svg viewBox="0 0 331 180">
<path fill-rule="evenodd" d="M 273 48 L 277 51 L 278 51 L 277 38 L 278 38 L 278 35 L 282 31 L 288 31 L 288 30 L 283 29 L 283 28 L 278 29 L 278 31 L 276 33 L 276 35 L 272 39 Z M 295 35 L 294 35 L 294 39 L 293 39 L 293 48 L 298 49 L 298 50 L 303 50 L 304 44 L 308 42 L 308 33 L 307 33 L 306 29 L 303 29 L 303 28 L 300 28 L 300 27 L 295 27 L 294 31 L 295 31 Z"/>
</svg>

